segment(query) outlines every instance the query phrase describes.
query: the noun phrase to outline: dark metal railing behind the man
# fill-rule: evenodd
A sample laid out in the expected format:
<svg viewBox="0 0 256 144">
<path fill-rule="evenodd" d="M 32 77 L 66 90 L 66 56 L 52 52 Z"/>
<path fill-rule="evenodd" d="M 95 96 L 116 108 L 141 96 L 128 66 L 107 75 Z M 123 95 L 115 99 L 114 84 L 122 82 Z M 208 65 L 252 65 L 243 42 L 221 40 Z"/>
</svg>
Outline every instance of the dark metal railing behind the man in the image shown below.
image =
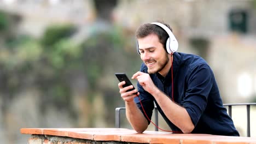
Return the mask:
<svg viewBox="0 0 256 144">
<path fill-rule="evenodd" d="M 228 107 L 228 114 L 232 118 L 232 106 L 246 106 L 247 111 L 247 137 L 251 137 L 251 120 L 250 120 L 250 109 L 251 105 L 256 105 L 256 103 L 239 103 L 239 104 L 223 104 Z M 117 107 L 115 109 L 115 128 L 120 128 L 120 111 L 125 110 L 125 107 Z M 155 124 L 158 125 L 158 108 L 155 106 Z M 158 128 L 155 127 L 155 131 Z"/>
</svg>

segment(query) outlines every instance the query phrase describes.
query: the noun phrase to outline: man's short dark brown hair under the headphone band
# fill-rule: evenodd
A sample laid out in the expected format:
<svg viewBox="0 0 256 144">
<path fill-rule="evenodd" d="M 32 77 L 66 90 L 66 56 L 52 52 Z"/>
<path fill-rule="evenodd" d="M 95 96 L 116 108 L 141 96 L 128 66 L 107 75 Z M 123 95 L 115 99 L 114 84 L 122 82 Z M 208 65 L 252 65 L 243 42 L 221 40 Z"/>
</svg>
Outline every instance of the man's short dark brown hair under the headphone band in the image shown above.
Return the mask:
<svg viewBox="0 0 256 144">
<path fill-rule="evenodd" d="M 162 21 L 160 23 L 164 24 L 165 26 L 170 28 L 171 31 L 172 31 L 172 28 L 167 23 L 164 23 Z M 166 48 L 166 44 L 165 43 L 166 43 L 166 40 L 169 37 L 169 35 L 160 26 L 157 26 L 157 25 L 154 25 L 154 24 L 151 24 L 151 23 L 145 23 L 145 24 L 141 25 L 137 29 L 137 31 L 136 31 L 136 38 L 137 39 L 144 38 L 144 37 L 147 37 L 147 35 L 149 35 L 149 34 L 156 34 L 156 35 L 158 35 L 160 43 Z"/>
</svg>

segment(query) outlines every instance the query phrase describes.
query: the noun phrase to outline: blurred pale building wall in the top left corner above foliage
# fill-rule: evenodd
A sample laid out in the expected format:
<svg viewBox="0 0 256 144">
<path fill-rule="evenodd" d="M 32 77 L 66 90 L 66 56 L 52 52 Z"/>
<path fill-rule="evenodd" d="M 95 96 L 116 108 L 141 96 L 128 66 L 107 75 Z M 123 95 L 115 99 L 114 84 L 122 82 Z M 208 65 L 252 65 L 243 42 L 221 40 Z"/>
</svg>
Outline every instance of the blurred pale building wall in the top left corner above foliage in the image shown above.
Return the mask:
<svg viewBox="0 0 256 144">
<path fill-rule="evenodd" d="M 44 28 L 51 23 L 72 22 L 85 25 L 95 19 L 94 3 L 83 0 L 1 0 L 0 8 L 20 15 L 20 33 L 42 35 Z"/>
</svg>

